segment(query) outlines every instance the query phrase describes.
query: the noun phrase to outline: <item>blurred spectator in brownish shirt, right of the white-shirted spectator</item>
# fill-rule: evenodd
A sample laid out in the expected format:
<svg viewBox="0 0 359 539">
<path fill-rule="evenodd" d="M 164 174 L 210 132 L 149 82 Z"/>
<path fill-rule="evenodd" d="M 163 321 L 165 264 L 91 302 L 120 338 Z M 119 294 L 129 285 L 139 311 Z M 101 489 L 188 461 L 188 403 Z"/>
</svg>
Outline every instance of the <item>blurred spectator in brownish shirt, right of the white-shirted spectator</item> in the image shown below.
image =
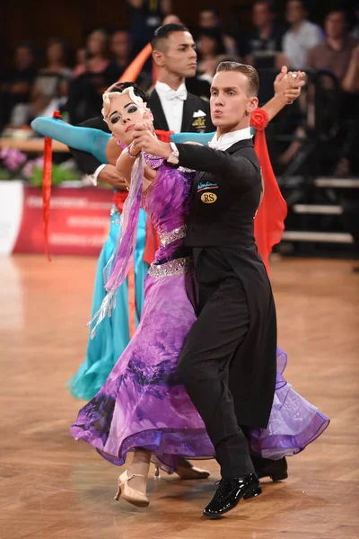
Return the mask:
<svg viewBox="0 0 359 539">
<path fill-rule="evenodd" d="M 324 22 L 325 40 L 308 52 L 307 67 L 325 69 L 341 82 L 346 75 L 353 49 L 359 41 L 347 34 L 346 13 L 333 9 Z"/>
</svg>

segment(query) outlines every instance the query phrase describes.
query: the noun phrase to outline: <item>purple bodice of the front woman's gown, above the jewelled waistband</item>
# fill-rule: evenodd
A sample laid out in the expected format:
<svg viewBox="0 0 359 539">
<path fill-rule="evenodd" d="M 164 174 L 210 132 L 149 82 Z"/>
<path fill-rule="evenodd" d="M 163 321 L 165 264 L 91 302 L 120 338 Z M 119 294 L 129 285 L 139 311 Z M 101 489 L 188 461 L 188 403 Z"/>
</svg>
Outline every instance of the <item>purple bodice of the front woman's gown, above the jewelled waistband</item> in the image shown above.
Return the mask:
<svg viewBox="0 0 359 539">
<path fill-rule="evenodd" d="M 183 244 L 189 208 L 189 190 L 195 172 L 173 169 L 162 164 L 157 177 L 144 192 L 142 208 L 160 236 L 156 261 L 171 258 Z"/>
</svg>

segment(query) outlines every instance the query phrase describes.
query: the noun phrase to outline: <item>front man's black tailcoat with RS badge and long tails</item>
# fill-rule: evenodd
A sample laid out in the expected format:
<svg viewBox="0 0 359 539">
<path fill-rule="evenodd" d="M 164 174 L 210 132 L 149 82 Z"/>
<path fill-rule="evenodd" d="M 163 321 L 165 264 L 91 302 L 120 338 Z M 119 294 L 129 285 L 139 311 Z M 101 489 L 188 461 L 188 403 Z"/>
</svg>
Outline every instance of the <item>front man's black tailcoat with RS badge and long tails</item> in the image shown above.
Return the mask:
<svg viewBox="0 0 359 539">
<path fill-rule="evenodd" d="M 276 306 L 253 237 L 261 196 L 258 158 L 251 139 L 225 152 L 177 146 L 180 165 L 201 171 L 192 187 L 186 240 L 194 248 L 199 314 L 225 279 L 241 280 L 250 324 L 232 357 L 229 387 L 238 424 L 266 428 L 276 384 Z M 231 295 L 228 305 L 230 311 Z"/>
</svg>

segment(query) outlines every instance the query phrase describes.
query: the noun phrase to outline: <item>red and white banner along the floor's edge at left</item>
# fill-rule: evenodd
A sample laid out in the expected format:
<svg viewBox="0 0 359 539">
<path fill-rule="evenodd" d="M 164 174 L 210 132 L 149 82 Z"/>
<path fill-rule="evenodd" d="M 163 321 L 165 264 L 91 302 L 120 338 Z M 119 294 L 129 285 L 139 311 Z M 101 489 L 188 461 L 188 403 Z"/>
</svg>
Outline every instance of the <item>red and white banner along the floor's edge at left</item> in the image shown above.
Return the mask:
<svg viewBox="0 0 359 539">
<path fill-rule="evenodd" d="M 51 254 L 98 256 L 109 232 L 112 190 L 53 187 Z M 0 182 L 0 253 L 44 252 L 42 192 L 21 181 Z"/>
</svg>

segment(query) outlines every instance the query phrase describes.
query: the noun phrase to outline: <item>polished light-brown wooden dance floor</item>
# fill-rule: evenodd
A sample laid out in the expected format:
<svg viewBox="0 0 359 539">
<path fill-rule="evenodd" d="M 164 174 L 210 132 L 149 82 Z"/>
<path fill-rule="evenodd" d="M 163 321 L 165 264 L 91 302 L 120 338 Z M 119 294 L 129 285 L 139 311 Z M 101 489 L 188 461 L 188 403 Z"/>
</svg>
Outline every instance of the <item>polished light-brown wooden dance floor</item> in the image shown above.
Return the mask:
<svg viewBox="0 0 359 539">
<path fill-rule="evenodd" d="M 218 479 L 149 482 L 149 508 L 113 500 L 118 468 L 75 442 L 95 259 L 0 258 L 1 539 L 354 539 L 359 537 L 359 274 L 353 262 L 276 260 L 272 281 L 286 378 L 331 418 L 289 459 L 285 482 L 206 521 Z"/>
</svg>

